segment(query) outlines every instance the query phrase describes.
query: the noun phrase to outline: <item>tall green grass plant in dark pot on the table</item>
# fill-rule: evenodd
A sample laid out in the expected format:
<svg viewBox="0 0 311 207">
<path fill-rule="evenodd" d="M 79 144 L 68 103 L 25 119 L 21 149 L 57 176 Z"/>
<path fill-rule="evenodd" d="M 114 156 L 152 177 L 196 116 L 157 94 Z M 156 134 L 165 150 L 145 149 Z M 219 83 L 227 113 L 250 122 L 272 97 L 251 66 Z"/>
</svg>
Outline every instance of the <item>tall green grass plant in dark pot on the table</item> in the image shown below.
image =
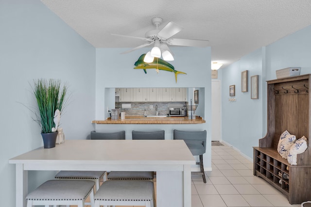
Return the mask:
<svg viewBox="0 0 311 207">
<path fill-rule="evenodd" d="M 36 122 L 41 127 L 44 148 L 55 147 L 60 115 L 67 99 L 67 85 L 61 80 L 34 80 L 33 93 L 38 105 Z"/>
</svg>

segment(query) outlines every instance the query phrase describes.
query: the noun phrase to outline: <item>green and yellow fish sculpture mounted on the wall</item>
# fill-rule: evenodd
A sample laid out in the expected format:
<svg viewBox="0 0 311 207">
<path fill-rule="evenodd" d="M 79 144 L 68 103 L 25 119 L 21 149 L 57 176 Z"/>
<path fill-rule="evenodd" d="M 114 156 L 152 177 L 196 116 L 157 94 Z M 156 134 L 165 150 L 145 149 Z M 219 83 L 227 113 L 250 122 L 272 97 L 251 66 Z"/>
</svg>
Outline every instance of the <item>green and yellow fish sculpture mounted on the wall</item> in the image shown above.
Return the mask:
<svg viewBox="0 0 311 207">
<path fill-rule="evenodd" d="M 169 64 L 168 62 L 166 62 L 162 59 L 159 59 L 159 58 L 155 58 L 154 62 L 152 62 L 152 63 L 145 63 L 144 62 L 145 55 L 146 54 L 140 55 L 140 57 L 138 58 L 138 60 L 134 64 L 136 66 L 136 67 L 134 67 L 134 69 L 143 69 L 145 73 L 147 73 L 146 69 L 151 69 L 151 68 L 174 72 L 176 82 L 177 82 L 177 75 L 178 74 L 187 74 L 187 73 L 175 70 L 174 66 L 172 64 Z"/>
</svg>

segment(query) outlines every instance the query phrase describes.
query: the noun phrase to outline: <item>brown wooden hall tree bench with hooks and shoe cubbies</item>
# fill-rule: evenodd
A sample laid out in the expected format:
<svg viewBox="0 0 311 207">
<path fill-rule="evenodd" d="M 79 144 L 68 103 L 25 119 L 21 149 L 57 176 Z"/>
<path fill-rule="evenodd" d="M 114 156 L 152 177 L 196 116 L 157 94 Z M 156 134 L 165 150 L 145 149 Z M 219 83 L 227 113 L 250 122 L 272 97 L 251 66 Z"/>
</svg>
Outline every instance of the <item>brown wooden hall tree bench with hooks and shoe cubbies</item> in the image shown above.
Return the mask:
<svg viewBox="0 0 311 207">
<path fill-rule="evenodd" d="M 267 134 L 254 147 L 254 175 L 282 192 L 290 204 L 311 198 L 311 74 L 267 81 Z M 297 139 L 307 137 L 308 148 L 290 165 L 277 152 L 280 135 L 288 130 Z"/>
</svg>

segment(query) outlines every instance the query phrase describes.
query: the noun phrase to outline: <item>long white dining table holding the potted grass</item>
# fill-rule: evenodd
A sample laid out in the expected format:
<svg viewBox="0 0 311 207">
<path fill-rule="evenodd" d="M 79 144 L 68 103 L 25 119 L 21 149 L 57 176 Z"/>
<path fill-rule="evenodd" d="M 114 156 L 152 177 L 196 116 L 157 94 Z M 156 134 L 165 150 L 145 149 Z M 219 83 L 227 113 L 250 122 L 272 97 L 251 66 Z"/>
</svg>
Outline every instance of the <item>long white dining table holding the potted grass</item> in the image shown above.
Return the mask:
<svg viewBox="0 0 311 207">
<path fill-rule="evenodd" d="M 16 207 L 26 207 L 29 170 L 155 171 L 157 207 L 191 207 L 195 159 L 183 140 L 66 140 L 9 163 L 16 164 Z"/>
</svg>

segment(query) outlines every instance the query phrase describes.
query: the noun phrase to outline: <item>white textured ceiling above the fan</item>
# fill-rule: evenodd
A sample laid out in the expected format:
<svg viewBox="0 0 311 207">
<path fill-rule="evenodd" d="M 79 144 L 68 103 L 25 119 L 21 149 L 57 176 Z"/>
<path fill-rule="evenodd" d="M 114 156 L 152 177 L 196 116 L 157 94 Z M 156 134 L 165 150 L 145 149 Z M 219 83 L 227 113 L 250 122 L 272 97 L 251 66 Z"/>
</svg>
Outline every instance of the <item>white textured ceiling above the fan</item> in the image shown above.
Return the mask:
<svg viewBox="0 0 311 207">
<path fill-rule="evenodd" d="M 170 21 L 184 27 L 175 38 L 209 40 L 212 62 L 225 65 L 311 25 L 311 0 L 41 1 L 95 48 L 146 43 L 111 33 L 144 37 L 159 16 L 160 29 Z"/>
</svg>

